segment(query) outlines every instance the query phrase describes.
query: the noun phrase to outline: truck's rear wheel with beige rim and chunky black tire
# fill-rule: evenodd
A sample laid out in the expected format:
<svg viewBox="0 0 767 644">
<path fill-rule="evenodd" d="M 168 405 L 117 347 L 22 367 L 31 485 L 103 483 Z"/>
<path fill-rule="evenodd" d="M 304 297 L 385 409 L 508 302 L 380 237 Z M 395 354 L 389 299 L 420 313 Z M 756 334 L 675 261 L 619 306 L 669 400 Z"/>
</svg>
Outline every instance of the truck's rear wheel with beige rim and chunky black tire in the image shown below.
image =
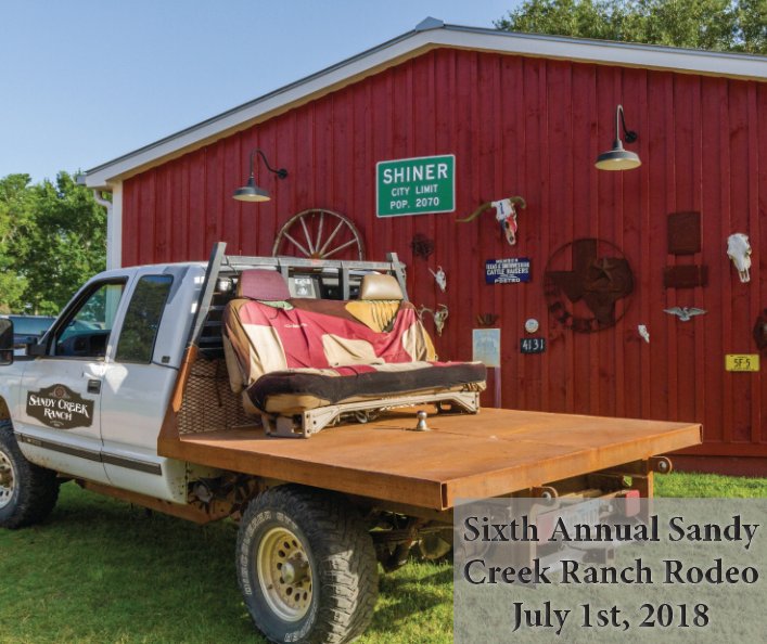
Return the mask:
<svg viewBox="0 0 767 644">
<path fill-rule="evenodd" d="M 237 568 L 245 606 L 272 642 L 350 642 L 373 616 L 373 542 L 340 497 L 293 485 L 259 494 L 240 524 Z"/>
</svg>

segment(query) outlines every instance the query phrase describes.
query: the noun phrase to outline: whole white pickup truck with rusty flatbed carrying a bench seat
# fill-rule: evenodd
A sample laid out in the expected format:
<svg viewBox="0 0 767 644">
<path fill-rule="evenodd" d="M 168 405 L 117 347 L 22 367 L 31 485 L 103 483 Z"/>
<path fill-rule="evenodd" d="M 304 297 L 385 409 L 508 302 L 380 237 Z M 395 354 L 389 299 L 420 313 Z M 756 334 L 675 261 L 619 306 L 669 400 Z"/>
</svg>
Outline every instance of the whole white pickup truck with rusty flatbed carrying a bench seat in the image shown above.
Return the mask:
<svg viewBox="0 0 767 644">
<path fill-rule="evenodd" d="M 277 291 L 245 292 L 267 273 Z M 401 293 L 366 292 L 373 273 Z M 231 517 L 256 627 L 347 642 L 372 617 L 379 563 L 449 550 L 457 499 L 651 495 L 670 468 L 656 455 L 701 440 L 698 424 L 477 413 L 476 365 L 435 361 L 412 314 L 394 256 L 217 244 L 208 262 L 94 276 L 26 357 L 0 320 L 0 528 L 43 520 L 65 480 L 197 523 Z"/>
</svg>

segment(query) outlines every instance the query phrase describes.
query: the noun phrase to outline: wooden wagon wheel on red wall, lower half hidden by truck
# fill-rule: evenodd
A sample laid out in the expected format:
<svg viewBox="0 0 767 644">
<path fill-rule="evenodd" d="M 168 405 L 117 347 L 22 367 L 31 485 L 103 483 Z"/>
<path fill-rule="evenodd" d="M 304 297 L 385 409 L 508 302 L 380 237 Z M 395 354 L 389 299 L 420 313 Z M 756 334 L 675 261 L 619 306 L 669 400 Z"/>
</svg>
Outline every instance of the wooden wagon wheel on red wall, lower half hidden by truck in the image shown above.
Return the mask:
<svg viewBox="0 0 767 644">
<path fill-rule="evenodd" d="M 277 233 L 272 256 L 311 259 L 365 259 L 365 242 L 343 215 L 312 208 L 291 217 Z"/>
</svg>

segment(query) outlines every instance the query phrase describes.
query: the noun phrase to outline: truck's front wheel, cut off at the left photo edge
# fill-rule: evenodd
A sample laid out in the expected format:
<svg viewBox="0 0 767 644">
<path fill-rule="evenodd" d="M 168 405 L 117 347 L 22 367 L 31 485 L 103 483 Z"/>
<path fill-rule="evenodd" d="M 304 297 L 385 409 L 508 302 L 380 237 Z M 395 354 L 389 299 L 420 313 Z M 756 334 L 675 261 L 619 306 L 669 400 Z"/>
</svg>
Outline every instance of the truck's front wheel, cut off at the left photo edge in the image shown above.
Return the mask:
<svg viewBox="0 0 767 644">
<path fill-rule="evenodd" d="M 40 523 L 56 499 L 56 473 L 29 463 L 18 449 L 10 421 L 0 421 L 0 528 Z"/>
</svg>

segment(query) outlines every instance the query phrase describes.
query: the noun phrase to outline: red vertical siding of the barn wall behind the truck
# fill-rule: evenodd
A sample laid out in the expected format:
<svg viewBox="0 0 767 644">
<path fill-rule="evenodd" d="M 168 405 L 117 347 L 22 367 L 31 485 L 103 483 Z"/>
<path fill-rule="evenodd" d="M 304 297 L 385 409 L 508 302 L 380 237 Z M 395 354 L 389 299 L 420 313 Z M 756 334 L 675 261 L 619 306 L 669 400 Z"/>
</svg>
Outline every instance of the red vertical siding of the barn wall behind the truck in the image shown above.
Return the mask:
<svg viewBox="0 0 767 644">
<path fill-rule="evenodd" d="M 599 172 L 593 159 L 614 138 L 618 103 L 643 165 Z M 476 317 L 499 315 L 504 407 L 699 421 L 706 442 L 695 453 L 767 456 L 767 378 L 724 370 L 725 353 L 756 352 L 751 331 L 767 307 L 764 123 L 765 83 L 435 50 L 126 181 L 123 259 L 204 259 L 219 240 L 269 255 L 294 214 L 336 210 L 362 232 L 369 258 L 395 250 L 407 262 L 417 306 L 449 306 L 436 338 L 443 358 L 471 358 Z M 231 193 L 255 146 L 289 177 L 258 163 L 272 201 L 240 204 Z M 456 154 L 456 214 L 376 219 L 375 163 L 434 154 Z M 490 214 L 455 223 L 512 195 L 527 201 L 514 247 Z M 681 210 L 701 212 L 694 256 L 667 252 L 667 216 Z M 751 236 L 749 284 L 726 256 L 733 232 Z M 419 233 L 435 243 L 426 260 L 410 247 Z M 635 273 L 625 317 L 593 334 L 563 329 L 542 292 L 549 258 L 580 237 L 615 244 Z M 486 285 L 485 260 L 501 257 L 529 257 L 533 281 Z M 663 270 L 674 265 L 707 266 L 708 285 L 664 288 Z M 429 272 L 437 266 L 445 294 Z M 708 312 L 685 323 L 663 312 L 673 306 Z M 527 318 L 539 320 L 546 353 L 519 353 Z"/>
</svg>

